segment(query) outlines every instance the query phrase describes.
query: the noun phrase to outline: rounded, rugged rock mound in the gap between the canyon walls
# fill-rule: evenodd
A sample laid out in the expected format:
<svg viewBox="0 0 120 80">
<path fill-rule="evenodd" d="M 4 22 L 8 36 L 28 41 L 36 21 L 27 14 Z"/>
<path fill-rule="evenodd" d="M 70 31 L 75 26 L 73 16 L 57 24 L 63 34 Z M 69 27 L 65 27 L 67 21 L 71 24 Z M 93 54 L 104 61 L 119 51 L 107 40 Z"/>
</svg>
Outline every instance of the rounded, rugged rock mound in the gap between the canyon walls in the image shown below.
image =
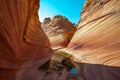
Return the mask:
<svg viewBox="0 0 120 80">
<path fill-rule="evenodd" d="M 42 28 L 48 36 L 53 49 L 66 47 L 76 30 L 75 24 L 72 24 L 61 15 L 56 15 L 53 19 L 45 18 Z"/>
</svg>

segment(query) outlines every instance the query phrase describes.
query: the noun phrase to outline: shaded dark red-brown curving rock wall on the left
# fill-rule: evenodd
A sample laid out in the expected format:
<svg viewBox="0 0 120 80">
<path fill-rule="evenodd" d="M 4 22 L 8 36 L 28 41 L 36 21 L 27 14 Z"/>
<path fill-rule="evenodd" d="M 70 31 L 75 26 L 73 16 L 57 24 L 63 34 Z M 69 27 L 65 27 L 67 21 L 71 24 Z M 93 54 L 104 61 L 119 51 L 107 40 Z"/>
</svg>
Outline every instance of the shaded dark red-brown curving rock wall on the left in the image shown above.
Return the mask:
<svg viewBox="0 0 120 80">
<path fill-rule="evenodd" d="M 19 69 L 40 65 L 49 56 L 38 8 L 39 0 L 0 0 L 0 80 L 14 80 Z"/>
</svg>

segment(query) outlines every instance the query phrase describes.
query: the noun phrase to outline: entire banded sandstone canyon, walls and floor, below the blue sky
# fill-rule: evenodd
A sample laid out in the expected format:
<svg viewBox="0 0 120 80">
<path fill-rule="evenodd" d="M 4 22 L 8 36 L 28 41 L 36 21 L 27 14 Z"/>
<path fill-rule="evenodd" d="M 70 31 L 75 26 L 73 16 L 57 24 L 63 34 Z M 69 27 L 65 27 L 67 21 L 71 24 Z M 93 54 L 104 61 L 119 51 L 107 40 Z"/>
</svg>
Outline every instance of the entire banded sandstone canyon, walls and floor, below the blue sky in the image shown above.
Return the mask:
<svg viewBox="0 0 120 80">
<path fill-rule="evenodd" d="M 39 0 L 0 0 L 0 80 L 119 80 L 119 4 L 86 0 L 76 28 L 63 16 L 40 23 Z M 68 57 L 76 74 L 61 64 Z"/>
</svg>

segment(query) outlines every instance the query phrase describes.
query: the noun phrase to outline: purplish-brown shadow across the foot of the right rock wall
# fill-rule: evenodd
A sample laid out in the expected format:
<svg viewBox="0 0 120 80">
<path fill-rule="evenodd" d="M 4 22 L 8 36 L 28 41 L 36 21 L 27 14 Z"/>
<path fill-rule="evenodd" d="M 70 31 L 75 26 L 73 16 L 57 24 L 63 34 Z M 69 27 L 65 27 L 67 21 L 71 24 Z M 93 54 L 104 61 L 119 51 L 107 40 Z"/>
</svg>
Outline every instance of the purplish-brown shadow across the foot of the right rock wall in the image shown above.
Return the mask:
<svg viewBox="0 0 120 80">
<path fill-rule="evenodd" d="M 120 67 L 79 63 L 78 74 L 69 74 L 67 80 L 120 80 Z"/>
</svg>

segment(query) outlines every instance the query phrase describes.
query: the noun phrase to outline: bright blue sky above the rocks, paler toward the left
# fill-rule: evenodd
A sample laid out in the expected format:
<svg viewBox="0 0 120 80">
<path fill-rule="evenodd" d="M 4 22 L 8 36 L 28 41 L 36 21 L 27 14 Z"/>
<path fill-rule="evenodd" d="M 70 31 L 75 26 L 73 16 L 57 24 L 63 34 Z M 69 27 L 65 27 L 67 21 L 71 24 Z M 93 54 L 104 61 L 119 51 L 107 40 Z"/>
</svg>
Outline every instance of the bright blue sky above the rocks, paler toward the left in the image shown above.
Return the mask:
<svg viewBox="0 0 120 80">
<path fill-rule="evenodd" d="M 77 24 L 84 2 L 85 0 L 40 0 L 40 21 L 42 22 L 45 17 L 62 15 Z"/>
</svg>

